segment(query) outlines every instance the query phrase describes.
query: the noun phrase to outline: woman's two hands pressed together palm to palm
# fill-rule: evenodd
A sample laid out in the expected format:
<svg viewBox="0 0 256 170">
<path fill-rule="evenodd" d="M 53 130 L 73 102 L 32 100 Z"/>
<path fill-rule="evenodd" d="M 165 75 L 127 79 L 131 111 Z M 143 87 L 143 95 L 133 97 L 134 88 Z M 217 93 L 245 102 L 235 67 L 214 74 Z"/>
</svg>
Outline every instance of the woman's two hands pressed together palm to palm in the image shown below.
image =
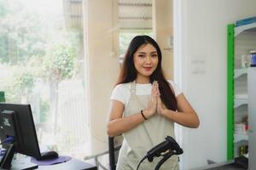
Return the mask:
<svg viewBox="0 0 256 170">
<path fill-rule="evenodd" d="M 164 115 L 167 109 L 162 104 L 160 99 L 160 90 L 157 81 L 153 82 L 152 91 L 151 91 L 151 98 L 148 102 L 148 107 L 143 111 L 145 116 L 150 117 L 154 114 Z"/>
</svg>

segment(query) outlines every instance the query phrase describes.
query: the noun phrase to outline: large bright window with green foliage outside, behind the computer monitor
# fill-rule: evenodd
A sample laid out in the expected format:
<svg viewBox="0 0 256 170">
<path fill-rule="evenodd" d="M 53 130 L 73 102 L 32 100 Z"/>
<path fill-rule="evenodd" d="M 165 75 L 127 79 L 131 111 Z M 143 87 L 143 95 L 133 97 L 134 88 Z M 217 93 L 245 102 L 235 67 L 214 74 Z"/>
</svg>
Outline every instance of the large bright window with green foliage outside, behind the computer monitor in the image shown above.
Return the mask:
<svg viewBox="0 0 256 170">
<path fill-rule="evenodd" d="M 82 0 L 0 1 L 0 91 L 32 105 L 39 143 L 82 156 L 88 144 Z"/>
</svg>

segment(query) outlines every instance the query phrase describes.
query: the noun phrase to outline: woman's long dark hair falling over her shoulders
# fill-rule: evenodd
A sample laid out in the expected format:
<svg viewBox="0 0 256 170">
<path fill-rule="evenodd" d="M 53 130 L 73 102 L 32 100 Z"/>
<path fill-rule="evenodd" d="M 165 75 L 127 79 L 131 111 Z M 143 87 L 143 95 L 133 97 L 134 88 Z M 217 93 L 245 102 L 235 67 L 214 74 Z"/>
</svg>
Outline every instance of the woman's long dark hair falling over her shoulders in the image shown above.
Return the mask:
<svg viewBox="0 0 256 170">
<path fill-rule="evenodd" d="M 160 47 L 152 37 L 143 35 L 143 36 L 134 37 L 131 40 L 129 48 L 127 49 L 125 54 L 125 59 L 123 61 L 123 65 L 119 74 L 119 79 L 117 84 L 133 82 L 136 80 L 137 70 L 134 65 L 133 55 L 137 52 L 138 48 L 148 43 L 154 46 L 158 55 L 158 65 L 155 71 L 149 77 L 150 83 L 152 84 L 154 81 L 157 81 L 159 83 L 160 98 L 163 101 L 163 103 L 166 105 L 166 108 L 172 111 L 177 111 L 177 100 L 176 100 L 174 91 L 170 87 L 170 83 L 166 81 L 166 78 L 164 77 L 164 74 L 162 71 L 162 66 L 161 66 L 162 54 L 160 51 Z"/>
</svg>

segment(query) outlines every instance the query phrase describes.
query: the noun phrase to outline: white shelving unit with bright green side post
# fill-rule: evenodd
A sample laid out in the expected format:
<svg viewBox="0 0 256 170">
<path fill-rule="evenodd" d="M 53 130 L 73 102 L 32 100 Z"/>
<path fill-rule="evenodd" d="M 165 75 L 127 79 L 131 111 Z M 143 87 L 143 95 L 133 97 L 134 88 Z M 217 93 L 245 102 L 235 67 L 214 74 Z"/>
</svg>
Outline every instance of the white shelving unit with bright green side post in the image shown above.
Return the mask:
<svg viewBox="0 0 256 170">
<path fill-rule="evenodd" d="M 256 18 L 253 23 L 245 24 L 248 20 L 237 22 L 241 26 L 230 24 L 227 27 L 228 36 L 228 65 L 227 65 L 227 158 L 234 159 L 238 153 L 237 148 L 241 144 L 247 144 L 249 135 L 246 129 L 236 125 L 244 122 L 245 116 L 251 116 L 251 97 L 248 99 L 248 93 L 252 93 L 248 88 L 250 68 L 241 68 L 241 56 L 248 54 L 248 50 L 255 48 L 256 45 Z M 251 20 L 251 19 L 250 19 Z M 249 21 L 250 21 L 249 20 Z M 237 24 L 236 23 L 236 24 Z M 244 25 L 242 25 L 244 24 Z M 237 68 L 237 69 L 236 69 Z M 238 69 L 240 68 L 240 69 Z M 251 88 L 250 88 L 251 89 Z M 250 95 L 249 94 L 249 95 Z M 255 103 L 255 102 L 254 102 Z M 253 105 L 256 106 L 256 105 Z M 254 111 L 254 110 L 253 110 Z M 250 117 L 248 124 L 252 121 Z M 250 124 L 250 129 L 252 125 Z M 255 145 L 255 144 L 254 144 Z M 238 146 L 238 147 L 237 147 Z M 252 146 L 249 146 L 252 148 Z M 255 157 L 255 156 L 254 156 Z"/>
</svg>

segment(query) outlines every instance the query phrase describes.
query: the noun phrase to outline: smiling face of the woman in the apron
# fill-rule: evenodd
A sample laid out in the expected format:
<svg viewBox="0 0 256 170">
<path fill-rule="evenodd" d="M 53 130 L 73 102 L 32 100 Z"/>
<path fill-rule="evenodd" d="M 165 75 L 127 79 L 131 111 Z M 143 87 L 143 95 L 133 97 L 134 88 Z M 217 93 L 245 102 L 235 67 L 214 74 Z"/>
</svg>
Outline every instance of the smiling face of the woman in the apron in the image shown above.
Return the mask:
<svg viewBox="0 0 256 170">
<path fill-rule="evenodd" d="M 150 43 L 141 46 L 133 55 L 133 62 L 137 70 L 137 78 L 149 78 L 158 65 L 156 48 Z"/>
</svg>

